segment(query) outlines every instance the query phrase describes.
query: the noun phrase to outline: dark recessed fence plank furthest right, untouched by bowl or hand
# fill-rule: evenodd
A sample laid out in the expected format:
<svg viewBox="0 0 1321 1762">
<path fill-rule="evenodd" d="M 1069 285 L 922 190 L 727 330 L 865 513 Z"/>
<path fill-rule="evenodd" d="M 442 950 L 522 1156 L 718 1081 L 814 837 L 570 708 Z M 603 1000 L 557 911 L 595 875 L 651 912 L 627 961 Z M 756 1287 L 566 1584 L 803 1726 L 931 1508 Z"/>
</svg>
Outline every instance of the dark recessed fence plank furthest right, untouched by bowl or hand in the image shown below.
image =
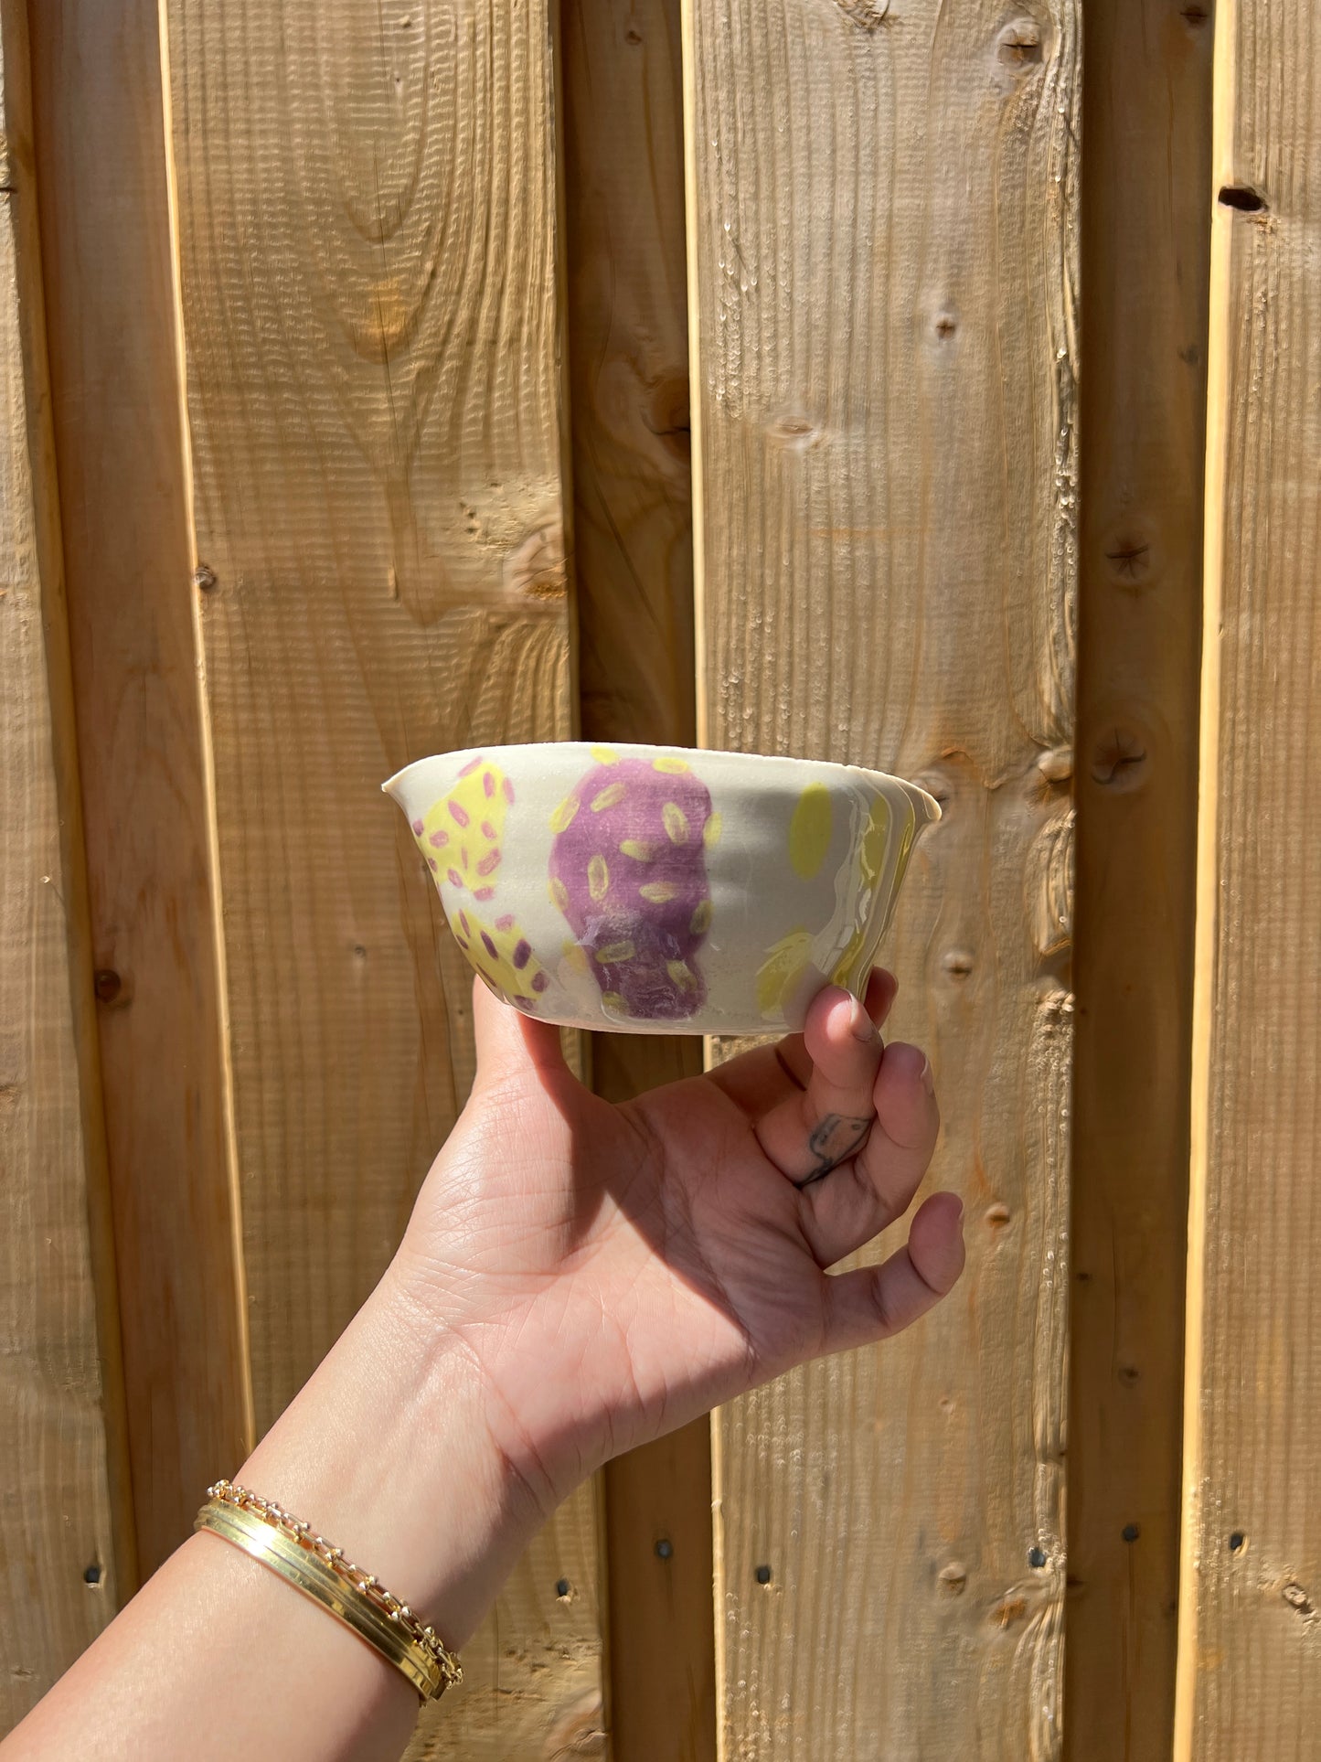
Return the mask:
<svg viewBox="0 0 1321 1762">
<path fill-rule="evenodd" d="M 1064 1692 L 1078 1762 L 1155 1762 L 1173 1741 L 1212 35 L 1210 9 L 1164 0 L 1087 12 Z"/>
</svg>

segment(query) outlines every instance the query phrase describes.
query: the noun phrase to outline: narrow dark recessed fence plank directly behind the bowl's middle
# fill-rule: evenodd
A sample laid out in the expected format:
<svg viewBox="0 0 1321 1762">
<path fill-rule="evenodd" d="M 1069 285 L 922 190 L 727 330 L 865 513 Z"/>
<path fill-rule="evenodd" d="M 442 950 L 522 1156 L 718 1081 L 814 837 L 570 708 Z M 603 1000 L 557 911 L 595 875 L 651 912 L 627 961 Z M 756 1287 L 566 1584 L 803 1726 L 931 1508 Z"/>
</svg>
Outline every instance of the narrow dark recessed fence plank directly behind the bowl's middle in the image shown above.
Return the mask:
<svg viewBox="0 0 1321 1762">
<path fill-rule="evenodd" d="M 564 9 L 567 321 L 581 726 L 696 740 L 678 0 Z M 595 1034 L 622 1101 L 701 1070 L 687 1036 Z M 616 1762 L 712 1762 L 710 1425 L 606 1470 Z"/>
</svg>

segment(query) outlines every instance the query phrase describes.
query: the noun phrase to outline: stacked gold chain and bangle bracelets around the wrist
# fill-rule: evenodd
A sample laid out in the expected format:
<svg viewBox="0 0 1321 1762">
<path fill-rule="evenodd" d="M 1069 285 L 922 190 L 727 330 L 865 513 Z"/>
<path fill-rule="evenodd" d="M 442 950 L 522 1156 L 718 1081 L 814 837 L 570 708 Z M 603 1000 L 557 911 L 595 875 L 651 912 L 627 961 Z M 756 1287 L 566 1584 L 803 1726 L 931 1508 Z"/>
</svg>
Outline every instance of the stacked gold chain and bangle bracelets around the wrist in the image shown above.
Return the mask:
<svg viewBox="0 0 1321 1762">
<path fill-rule="evenodd" d="M 391 1596 L 372 1573 L 345 1559 L 310 1524 L 269 1499 L 218 1480 L 208 1487 L 208 1503 L 197 1512 L 192 1528 L 210 1529 L 232 1542 L 303 1596 L 321 1603 L 402 1670 L 423 1700 L 439 1700 L 447 1688 L 463 1681 L 458 1658 L 446 1651 L 435 1632 L 407 1603 Z"/>
</svg>

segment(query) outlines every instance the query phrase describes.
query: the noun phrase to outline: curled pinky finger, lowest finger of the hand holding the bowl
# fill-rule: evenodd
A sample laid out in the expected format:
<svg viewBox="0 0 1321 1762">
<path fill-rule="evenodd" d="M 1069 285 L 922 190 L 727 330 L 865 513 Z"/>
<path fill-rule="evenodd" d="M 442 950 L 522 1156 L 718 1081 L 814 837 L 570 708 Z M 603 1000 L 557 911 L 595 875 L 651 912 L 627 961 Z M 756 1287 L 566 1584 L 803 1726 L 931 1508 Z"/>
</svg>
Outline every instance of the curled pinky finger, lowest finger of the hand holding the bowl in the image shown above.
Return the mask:
<svg viewBox="0 0 1321 1762">
<path fill-rule="evenodd" d="M 955 1288 L 962 1270 L 963 1205 L 953 1193 L 932 1193 L 889 1260 L 826 1276 L 826 1351 L 900 1334 Z"/>
</svg>

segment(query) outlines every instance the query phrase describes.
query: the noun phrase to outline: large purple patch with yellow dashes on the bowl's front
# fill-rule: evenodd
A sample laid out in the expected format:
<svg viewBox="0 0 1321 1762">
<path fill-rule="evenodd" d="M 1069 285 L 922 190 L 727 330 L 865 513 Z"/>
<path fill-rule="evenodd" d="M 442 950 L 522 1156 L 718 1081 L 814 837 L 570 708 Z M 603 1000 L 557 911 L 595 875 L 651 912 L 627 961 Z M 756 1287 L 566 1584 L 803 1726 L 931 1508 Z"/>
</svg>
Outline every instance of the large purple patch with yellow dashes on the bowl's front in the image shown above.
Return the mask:
<svg viewBox="0 0 1321 1762">
<path fill-rule="evenodd" d="M 706 1001 L 710 818 L 706 784 L 646 759 L 595 765 L 555 814 L 551 892 L 622 1015 L 682 1022 Z"/>
</svg>

